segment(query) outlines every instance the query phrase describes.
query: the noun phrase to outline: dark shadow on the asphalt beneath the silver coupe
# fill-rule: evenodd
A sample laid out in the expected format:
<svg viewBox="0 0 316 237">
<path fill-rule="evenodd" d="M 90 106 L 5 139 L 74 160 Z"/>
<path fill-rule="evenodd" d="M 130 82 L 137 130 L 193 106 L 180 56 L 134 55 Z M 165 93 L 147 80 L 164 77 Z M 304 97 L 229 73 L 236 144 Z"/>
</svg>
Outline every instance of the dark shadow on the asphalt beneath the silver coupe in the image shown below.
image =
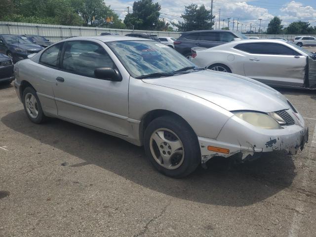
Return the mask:
<svg viewBox="0 0 316 237">
<path fill-rule="evenodd" d="M 242 164 L 214 159 L 207 170 L 199 167 L 188 177 L 173 179 L 155 170 L 142 147 L 121 139 L 59 119 L 33 124 L 23 110 L 1 121 L 14 131 L 82 159 L 69 163 L 69 168 L 94 164 L 153 191 L 194 202 L 251 205 L 289 187 L 296 175 L 290 156 L 268 154 Z"/>
</svg>

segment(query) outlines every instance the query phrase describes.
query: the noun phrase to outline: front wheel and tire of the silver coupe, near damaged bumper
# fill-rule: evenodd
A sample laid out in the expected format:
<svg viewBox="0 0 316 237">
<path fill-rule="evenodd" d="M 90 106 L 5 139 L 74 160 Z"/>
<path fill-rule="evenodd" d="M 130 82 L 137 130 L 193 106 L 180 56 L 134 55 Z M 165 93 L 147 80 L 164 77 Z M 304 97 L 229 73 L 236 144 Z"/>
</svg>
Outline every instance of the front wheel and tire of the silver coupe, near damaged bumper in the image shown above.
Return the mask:
<svg viewBox="0 0 316 237">
<path fill-rule="evenodd" d="M 154 119 L 146 128 L 144 147 L 158 171 L 174 178 L 189 175 L 201 161 L 197 135 L 177 116 Z"/>
</svg>

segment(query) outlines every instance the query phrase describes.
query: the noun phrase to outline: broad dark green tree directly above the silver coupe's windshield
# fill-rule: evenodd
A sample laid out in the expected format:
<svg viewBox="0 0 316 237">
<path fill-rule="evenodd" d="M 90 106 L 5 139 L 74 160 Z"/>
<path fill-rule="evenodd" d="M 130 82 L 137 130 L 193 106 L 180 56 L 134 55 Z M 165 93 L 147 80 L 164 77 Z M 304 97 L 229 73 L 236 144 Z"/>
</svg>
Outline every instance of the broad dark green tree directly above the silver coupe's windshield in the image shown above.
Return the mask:
<svg viewBox="0 0 316 237">
<path fill-rule="evenodd" d="M 124 24 L 129 29 L 135 30 L 161 30 L 165 28 L 165 22 L 159 20 L 159 3 L 153 0 L 134 1 L 133 12 L 125 16 Z"/>
</svg>

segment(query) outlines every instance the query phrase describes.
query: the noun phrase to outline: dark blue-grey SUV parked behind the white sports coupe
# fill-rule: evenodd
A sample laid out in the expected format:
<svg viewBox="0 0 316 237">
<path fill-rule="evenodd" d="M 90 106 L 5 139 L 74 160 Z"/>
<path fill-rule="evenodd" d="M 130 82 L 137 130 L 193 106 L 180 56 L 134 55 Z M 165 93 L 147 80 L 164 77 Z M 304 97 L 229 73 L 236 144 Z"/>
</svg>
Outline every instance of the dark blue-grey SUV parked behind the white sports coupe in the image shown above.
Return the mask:
<svg viewBox="0 0 316 237">
<path fill-rule="evenodd" d="M 248 39 L 238 32 L 224 30 L 189 31 L 173 42 L 175 50 L 186 57 L 191 56 L 191 48 L 211 48 L 237 39 Z"/>
</svg>

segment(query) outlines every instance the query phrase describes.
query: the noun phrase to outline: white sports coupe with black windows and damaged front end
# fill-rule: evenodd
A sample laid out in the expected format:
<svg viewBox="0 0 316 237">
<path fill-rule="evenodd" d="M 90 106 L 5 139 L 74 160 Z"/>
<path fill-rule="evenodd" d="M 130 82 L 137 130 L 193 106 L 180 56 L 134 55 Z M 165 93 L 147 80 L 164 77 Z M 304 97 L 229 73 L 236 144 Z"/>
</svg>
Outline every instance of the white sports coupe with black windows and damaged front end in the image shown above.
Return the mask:
<svg viewBox="0 0 316 237">
<path fill-rule="evenodd" d="M 237 40 L 192 48 L 199 67 L 234 73 L 271 86 L 316 88 L 316 54 L 285 40 Z"/>
</svg>

